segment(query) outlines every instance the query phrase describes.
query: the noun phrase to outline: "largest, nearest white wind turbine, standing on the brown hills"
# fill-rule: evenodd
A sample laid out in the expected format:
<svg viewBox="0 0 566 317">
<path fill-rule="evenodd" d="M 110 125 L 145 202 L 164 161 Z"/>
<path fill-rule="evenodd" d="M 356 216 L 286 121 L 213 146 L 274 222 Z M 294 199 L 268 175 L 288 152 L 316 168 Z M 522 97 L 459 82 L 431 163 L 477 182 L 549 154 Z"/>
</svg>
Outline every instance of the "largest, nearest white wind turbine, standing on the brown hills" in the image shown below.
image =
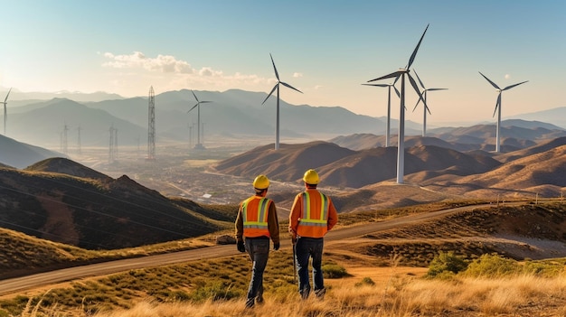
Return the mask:
<svg viewBox="0 0 566 317">
<path fill-rule="evenodd" d="M 415 61 L 415 57 L 417 56 L 417 51 L 419 51 L 420 42 L 422 42 L 422 39 L 424 38 L 424 34 L 427 33 L 428 29 L 429 29 L 429 25 L 427 25 L 427 28 L 425 29 L 424 33 L 422 33 L 422 36 L 420 36 L 419 43 L 417 44 L 417 47 L 415 47 L 415 50 L 412 51 L 412 54 L 410 55 L 409 63 L 407 63 L 407 66 L 404 69 L 399 69 L 395 72 L 392 72 L 389 75 L 385 75 L 380 78 L 367 81 L 367 82 L 372 82 L 375 80 L 392 79 L 392 78 L 399 79 L 401 77 L 399 137 L 397 142 L 397 183 L 400 184 L 403 183 L 403 175 L 405 168 L 405 140 L 404 140 L 405 139 L 405 77 L 409 78 L 410 85 L 412 86 L 413 89 L 415 89 L 417 94 L 419 94 L 419 99 L 422 99 L 422 96 L 420 95 L 420 91 L 419 91 L 419 86 L 417 86 L 417 82 L 415 81 L 415 79 L 410 77 L 409 71 L 410 71 L 410 65 L 412 65 L 413 61 Z M 424 100 L 422 102 L 424 102 L 425 105 L 427 104 Z"/>
</svg>

